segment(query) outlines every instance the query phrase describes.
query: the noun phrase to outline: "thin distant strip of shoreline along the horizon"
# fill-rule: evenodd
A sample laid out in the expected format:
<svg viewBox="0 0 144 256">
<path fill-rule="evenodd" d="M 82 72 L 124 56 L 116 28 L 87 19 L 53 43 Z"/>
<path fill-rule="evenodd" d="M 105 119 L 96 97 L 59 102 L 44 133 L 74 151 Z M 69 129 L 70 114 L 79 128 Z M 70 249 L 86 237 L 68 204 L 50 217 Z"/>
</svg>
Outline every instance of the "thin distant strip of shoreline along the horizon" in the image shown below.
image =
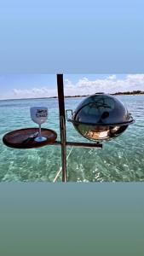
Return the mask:
<svg viewBox="0 0 144 256">
<path fill-rule="evenodd" d="M 143 96 L 144 91 L 141 92 L 116 92 L 116 93 L 110 93 L 112 96 Z M 87 97 L 90 95 L 78 95 L 78 96 L 65 96 L 65 98 L 82 98 Z M 43 100 L 43 99 L 57 99 L 57 96 L 50 96 L 50 97 L 40 97 L 40 98 L 20 98 L 20 99 L 0 99 L 0 101 L 20 101 L 20 100 Z"/>
</svg>

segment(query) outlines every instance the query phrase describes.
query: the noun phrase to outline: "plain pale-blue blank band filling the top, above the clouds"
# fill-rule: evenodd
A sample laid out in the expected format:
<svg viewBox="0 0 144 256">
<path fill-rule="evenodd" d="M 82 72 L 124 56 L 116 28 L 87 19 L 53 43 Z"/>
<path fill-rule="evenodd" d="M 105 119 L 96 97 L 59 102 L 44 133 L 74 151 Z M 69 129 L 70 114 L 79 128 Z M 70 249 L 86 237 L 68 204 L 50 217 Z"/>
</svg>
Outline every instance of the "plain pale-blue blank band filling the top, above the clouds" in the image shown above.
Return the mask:
<svg viewBox="0 0 144 256">
<path fill-rule="evenodd" d="M 0 70 L 141 73 L 143 10 L 143 0 L 2 0 Z"/>
</svg>

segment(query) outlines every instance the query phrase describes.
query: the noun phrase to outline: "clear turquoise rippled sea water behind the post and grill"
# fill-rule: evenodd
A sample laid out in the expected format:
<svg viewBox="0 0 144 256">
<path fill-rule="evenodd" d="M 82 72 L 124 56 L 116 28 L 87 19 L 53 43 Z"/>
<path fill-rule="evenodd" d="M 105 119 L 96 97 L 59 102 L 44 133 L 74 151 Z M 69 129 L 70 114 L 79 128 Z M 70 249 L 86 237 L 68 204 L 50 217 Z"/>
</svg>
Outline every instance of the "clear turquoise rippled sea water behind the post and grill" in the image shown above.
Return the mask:
<svg viewBox="0 0 144 256">
<path fill-rule="evenodd" d="M 103 148 L 67 148 L 67 181 L 134 182 L 144 181 L 144 96 L 118 96 L 132 113 L 135 124 Z M 75 109 L 83 98 L 66 98 L 66 109 Z M 55 130 L 60 139 L 57 99 L 0 101 L 0 181 L 53 182 L 60 171 L 60 146 L 15 149 L 3 145 L 9 131 L 37 127 L 30 118 L 30 108 L 49 108 L 48 121 L 42 128 Z M 89 142 L 66 122 L 67 141 Z M 61 181 L 61 172 L 57 182 Z"/>
</svg>

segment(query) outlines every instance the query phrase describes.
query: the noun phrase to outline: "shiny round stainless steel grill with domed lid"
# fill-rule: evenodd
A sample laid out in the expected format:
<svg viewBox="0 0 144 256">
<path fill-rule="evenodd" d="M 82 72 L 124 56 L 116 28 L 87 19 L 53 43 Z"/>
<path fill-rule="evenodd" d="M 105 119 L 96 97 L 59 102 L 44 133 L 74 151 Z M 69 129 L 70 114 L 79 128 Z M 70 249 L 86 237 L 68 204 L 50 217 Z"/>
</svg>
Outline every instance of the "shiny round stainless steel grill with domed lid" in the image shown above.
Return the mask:
<svg viewBox="0 0 144 256">
<path fill-rule="evenodd" d="M 118 137 L 128 125 L 134 123 L 131 114 L 118 98 L 102 93 L 85 98 L 68 121 L 83 137 L 92 141 Z"/>
</svg>

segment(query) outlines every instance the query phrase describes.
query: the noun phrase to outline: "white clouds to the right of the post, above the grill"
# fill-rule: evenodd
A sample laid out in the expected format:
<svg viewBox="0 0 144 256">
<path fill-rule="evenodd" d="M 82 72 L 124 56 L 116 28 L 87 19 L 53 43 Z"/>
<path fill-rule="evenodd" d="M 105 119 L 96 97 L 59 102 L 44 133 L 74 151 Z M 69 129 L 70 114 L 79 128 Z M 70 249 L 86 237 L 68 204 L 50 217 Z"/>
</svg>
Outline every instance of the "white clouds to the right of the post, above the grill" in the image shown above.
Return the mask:
<svg viewBox="0 0 144 256">
<path fill-rule="evenodd" d="M 114 93 L 127 90 L 144 90 L 144 74 L 129 74 L 124 79 L 118 79 L 116 75 L 107 76 L 106 79 L 89 80 L 79 79 L 76 84 L 71 83 L 71 90 L 67 84 L 66 95 L 85 95 L 95 92 Z"/>
</svg>

